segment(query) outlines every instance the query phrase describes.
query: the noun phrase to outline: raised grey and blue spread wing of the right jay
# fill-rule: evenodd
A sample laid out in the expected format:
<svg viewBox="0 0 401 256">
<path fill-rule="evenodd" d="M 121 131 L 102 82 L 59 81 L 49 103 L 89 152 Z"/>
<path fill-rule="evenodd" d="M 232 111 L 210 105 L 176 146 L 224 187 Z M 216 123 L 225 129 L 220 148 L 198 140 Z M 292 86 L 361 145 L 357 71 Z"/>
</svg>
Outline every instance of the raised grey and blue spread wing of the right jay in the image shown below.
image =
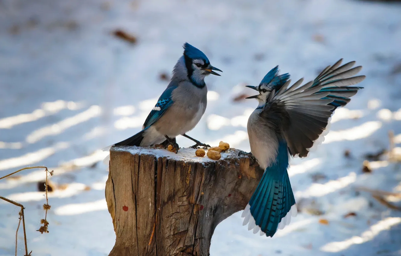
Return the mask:
<svg viewBox="0 0 401 256">
<path fill-rule="evenodd" d="M 302 86 L 299 85 L 303 79 L 290 87 L 290 80 L 287 81 L 277 93 L 272 91 L 260 113 L 269 128 L 284 136 L 292 156 L 307 156 L 326 129 L 337 105 L 345 106 L 349 98 L 362 88 L 348 86 L 365 79 L 364 75 L 350 77 L 362 67 L 349 69 L 354 62 L 338 67 L 340 61 Z"/>
</svg>

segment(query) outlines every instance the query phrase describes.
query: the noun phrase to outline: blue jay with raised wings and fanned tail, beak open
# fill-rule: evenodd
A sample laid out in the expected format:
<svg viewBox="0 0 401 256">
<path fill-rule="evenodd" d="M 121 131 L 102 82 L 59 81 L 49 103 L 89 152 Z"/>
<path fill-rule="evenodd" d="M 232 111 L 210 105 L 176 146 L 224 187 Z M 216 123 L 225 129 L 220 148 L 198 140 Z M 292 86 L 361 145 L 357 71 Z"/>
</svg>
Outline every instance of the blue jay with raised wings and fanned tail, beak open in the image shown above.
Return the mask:
<svg viewBox="0 0 401 256">
<path fill-rule="evenodd" d="M 326 67 L 314 81 L 302 86 L 303 79 L 290 86 L 288 73 L 278 75 L 278 66 L 265 75 L 259 86 L 259 105 L 249 116 L 247 130 L 251 153 L 265 170 L 243 211 L 243 225 L 256 234 L 273 237 L 295 217 L 297 208 L 287 168 L 291 156 L 305 157 L 310 148 L 326 135 L 334 110 L 350 102 L 363 87 L 354 85 L 365 79 L 354 76 L 362 66 L 355 61 L 340 66 L 342 59 Z M 253 156 L 252 156 L 253 155 Z"/>
</svg>

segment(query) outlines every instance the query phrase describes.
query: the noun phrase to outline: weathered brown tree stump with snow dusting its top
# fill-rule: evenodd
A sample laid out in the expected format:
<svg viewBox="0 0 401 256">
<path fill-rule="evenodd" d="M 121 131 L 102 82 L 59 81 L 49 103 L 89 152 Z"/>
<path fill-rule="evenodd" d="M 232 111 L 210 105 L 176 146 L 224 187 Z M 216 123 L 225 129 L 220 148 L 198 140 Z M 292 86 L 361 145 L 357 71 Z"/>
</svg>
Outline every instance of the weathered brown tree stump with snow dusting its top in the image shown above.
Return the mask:
<svg viewBox="0 0 401 256">
<path fill-rule="evenodd" d="M 105 195 L 116 240 L 109 256 L 209 255 L 217 224 L 245 208 L 263 175 L 238 152 L 230 148 L 214 161 L 192 148 L 112 147 Z"/>
</svg>

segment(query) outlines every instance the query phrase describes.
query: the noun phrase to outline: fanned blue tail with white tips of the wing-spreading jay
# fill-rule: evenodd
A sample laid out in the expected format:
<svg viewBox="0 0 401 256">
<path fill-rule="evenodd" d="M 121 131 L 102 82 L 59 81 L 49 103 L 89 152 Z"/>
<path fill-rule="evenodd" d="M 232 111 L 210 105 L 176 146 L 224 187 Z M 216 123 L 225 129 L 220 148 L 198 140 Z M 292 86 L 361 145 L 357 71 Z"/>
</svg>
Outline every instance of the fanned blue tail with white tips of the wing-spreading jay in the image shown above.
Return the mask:
<svg viewBox="0 0 401 256">
<path fill-rule="evenodd" d="M 286 224 L 289 224 L 290 219 L 287 219 L 286 215 L 290 212 L 291 207 L 295 205 L 295 199 L 287 167 L 287 143 L 280 142 L 276 162 L 265 169 L 259 185 L 251 200 L 249 200 L 249 205 L 247 206 L 251 215 L 251 217 L 248 217 L 250 221 L 249 229 L 253 227 L 253 221 L 255 221 L 255 225 L 259 226 L 266 236 L 273 237 L 280 221 L 283 220 L 280 223 L 280 228 L 284 228 Z M 247 208 L 245 208 L 245 211 L 247 211 Z M 290 218 L 290 215 L 291 213 L 289 213 L 288 218 Z M 247 217 L 245 217 L 245 221 L 247 222 Z M 258 228 L 255 228 L 254 233 L 258 230 Z"/>
</svg>

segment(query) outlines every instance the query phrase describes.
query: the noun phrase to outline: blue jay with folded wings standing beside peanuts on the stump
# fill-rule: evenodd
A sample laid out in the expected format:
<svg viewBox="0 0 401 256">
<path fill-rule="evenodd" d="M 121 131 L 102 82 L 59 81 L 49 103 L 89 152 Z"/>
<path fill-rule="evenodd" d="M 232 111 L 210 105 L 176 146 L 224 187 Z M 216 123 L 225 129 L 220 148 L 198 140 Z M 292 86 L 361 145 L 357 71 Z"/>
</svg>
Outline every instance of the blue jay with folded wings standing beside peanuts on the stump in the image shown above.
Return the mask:
<svg viewBox="0 0 401 256">
<path fill-rule="evenodd" d="M 192 130 L 205 113 L 205 77 L 209 74 L 219 75 L 213 70 L 221 70 L 213 67 L 199 49 L 188 43 L 183 47 L 184 54 L 174 66 L 171 81 L 146 118 L 142 130 L 115 146 L 153 146 L 164 142 L 165 146 L 172 144 L 173 151 L 178 152 L 179 146 L 175 140 L 178 135 L 196 142 L 192 146 L 194 148 L 209 146 L 186 135 L 186 132 Z"/>
</svg>

